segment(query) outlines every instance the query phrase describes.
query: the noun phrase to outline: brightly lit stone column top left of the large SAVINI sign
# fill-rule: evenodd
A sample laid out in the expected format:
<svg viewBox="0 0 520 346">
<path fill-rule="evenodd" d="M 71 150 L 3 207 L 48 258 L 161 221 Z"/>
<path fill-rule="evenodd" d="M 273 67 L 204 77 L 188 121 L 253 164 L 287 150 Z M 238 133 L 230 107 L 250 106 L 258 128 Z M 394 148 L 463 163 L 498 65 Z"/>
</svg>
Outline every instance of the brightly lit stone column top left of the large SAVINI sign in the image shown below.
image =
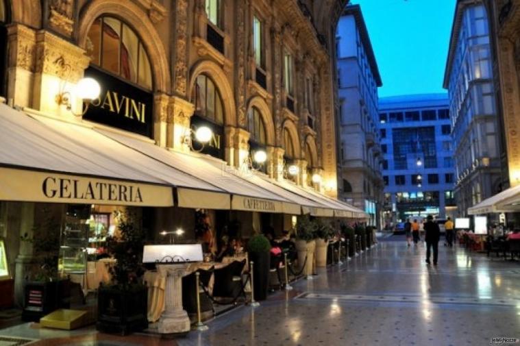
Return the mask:
<svg viewBox="0 0 520 346">
<path fill-rule="evenodd" d="M 73 113 L 81 114 L 82 99 L 76 97 L 74 88 L 88 67 L 85 51 L 41 30 L 36 33 L 35 59 L 32 108 L 71 119 Z M 56 103 L 62 92 L 70 92 L 72 112 Z"/>
</svg>

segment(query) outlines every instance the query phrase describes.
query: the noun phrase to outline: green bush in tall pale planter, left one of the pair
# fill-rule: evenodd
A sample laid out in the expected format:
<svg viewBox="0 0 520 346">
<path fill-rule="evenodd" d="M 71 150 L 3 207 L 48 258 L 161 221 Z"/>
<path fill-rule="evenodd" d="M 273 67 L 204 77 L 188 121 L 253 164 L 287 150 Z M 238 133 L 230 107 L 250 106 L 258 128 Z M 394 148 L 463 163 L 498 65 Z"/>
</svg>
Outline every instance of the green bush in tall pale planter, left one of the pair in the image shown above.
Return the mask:
<svg viewBox="0 0 520 346">
<path fill-rule="evenodd" d="M 312 275 L 312 263 L 314 262 L 314 223 L 310 221 L 308 215 L 301 215 L 296 223 L 296 251 L 298 252 L 298 263 L 300 269 L 303 268 L 304 275 Z M 307 258 L 307 260 L 306 260 Z"/>
</svg>

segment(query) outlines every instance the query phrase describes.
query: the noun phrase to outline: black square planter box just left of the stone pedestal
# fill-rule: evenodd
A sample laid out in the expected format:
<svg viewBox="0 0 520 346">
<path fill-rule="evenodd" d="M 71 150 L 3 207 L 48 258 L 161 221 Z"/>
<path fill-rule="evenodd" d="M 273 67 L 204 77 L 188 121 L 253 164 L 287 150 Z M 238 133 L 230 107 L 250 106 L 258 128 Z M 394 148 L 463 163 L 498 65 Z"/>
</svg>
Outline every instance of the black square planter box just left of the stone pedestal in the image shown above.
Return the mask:
<svg viewBox="0 0 520 346">
<path fill-rule="evenodd" d="M 148 328 L 147 302 L 147 286 L 99 286 L 97 330 L 127 335 Z"/>
</svg>

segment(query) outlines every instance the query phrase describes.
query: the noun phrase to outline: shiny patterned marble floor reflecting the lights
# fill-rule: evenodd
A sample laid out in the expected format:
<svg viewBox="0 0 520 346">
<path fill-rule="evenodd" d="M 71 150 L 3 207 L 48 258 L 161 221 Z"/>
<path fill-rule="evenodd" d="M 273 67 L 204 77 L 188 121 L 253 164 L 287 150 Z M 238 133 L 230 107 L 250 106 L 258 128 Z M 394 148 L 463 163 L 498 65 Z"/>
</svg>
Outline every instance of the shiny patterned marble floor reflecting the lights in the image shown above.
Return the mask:
<svg viewBox="0 0 520 346">
<path fill-rule="evenodd" d="M 93 330 L 44 336 L 21 325 L 0 330 L 0 345 L 460 346 L 520 338 L 520 262 L 440 243 L 438 266 L 427 266 L 423 246 L 394 238 L 399 241 L 387 238 L 341 266 L 319 270 L 314 280 L 294 283 L 293 291 L 256 308 L 236 308 L 210 321 L 206 332 L 175 341 Z M 4 344 L 1 337 L 40 340 Z"/>
</svg>

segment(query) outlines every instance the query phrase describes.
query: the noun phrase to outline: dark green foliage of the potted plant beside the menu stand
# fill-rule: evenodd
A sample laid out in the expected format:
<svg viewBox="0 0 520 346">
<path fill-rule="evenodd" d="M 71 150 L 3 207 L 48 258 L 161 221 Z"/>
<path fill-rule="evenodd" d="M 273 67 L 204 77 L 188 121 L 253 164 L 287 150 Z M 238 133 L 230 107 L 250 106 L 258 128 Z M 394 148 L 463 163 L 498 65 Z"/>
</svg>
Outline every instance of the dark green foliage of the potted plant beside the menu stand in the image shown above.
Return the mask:
<svg viewBox="0 0 520 346">
<path fill-rule="evenodd" d="M 108 236 L 106 240 L 107 252 L 116 260 L 110 267 L 110 274 L 114 284 L 128 286 L 140 283 L 145 273 L 143 268 L 143 247 L 145 235 L 140 227 L 135 212 L 129 209 L 126 213 L 114 212 L 119 221 L 119 236 Z"/>
</svg>

